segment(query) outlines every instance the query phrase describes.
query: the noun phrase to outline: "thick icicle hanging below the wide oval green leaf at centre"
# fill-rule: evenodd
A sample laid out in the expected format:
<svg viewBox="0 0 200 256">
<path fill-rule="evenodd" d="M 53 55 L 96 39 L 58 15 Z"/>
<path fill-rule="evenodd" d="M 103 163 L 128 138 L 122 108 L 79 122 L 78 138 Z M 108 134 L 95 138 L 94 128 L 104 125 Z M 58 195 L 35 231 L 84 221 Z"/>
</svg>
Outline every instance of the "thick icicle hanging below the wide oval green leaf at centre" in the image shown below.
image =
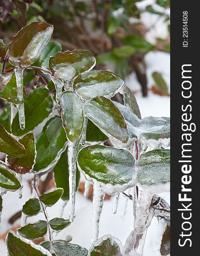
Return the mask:
<svg viewBox="0 0 200 256">
<path fill-rule="evenodd" d="M 104 204 L 105 192 L 98 182 L 93 183 L 93 236 L 91 241 L 95 241 L 99 236 L 99 221 Z"/>
</svg>

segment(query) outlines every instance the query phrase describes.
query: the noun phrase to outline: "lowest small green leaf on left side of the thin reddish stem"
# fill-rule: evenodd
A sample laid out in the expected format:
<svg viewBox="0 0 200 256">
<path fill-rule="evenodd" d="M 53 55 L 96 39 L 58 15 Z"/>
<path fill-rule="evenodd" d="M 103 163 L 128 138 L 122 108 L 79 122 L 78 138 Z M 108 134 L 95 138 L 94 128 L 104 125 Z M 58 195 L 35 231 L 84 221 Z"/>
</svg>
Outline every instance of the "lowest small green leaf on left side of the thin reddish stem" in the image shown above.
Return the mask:
<svg viewBox="0 0 200 256">
<path fill-rule="evenodd" d="M 46 235 L 47 225 L 48 224 L 46 221 L 38 221 L 34 224 L 28 224 L 24 227 L 21 227 L 17 231 L 20 236 L 23 236 L 26 239 L 34 240 Z"/>
</svg>

